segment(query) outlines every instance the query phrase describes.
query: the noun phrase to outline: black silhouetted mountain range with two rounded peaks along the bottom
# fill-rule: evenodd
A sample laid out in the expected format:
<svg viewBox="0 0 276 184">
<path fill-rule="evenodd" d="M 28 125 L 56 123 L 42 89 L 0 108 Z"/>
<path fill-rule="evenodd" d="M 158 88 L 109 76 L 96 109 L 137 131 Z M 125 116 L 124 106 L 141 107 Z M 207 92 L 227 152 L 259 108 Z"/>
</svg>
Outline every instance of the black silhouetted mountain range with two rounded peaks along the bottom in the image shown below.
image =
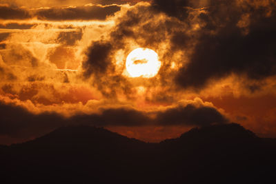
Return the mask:
<svg viewBox="0 0 276 184">
<path fill-rule="evenodd" d="M 232 123 L 144 143 L 99 127 L 61 127 L 0 146 L 1 183 L 275 183 L 276 141 Z"/>
</svg>

